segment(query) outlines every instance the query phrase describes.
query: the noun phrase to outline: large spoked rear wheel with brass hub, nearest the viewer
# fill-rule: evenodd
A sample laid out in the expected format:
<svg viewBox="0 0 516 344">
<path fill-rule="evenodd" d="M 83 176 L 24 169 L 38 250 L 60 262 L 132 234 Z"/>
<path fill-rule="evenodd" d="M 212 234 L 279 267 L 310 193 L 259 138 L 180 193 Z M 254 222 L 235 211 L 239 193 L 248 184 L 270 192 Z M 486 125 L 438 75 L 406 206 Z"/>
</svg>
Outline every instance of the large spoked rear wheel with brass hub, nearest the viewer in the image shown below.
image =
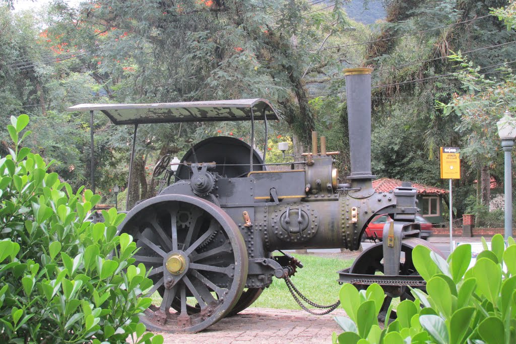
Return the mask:
<svg viewBox="0 0 516 344">
<path fill-rule="evenodd" d="M 219 207 L 186 195 L 160 195 L 137 205 L 120 224 L 139 251 L 135 265 L 151 269 L 159 306 L 140 320 L 152 331 L 195 333 L 227 315 L 247 279 L 244 239 Z"/>
</svg>

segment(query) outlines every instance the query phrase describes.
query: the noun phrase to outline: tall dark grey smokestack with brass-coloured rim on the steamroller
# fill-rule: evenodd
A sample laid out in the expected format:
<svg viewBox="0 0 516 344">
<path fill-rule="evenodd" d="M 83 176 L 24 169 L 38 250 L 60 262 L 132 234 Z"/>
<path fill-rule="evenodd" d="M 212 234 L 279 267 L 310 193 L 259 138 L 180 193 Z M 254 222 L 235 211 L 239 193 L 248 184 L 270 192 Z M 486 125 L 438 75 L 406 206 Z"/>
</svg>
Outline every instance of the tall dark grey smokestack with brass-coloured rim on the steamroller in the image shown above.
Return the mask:
<svg viewBox="0 0 516 344">
<path fill-rule="evenodd" d="M 351 175 L 348 179 L 372 179 L 371 173 L 371 72 L 349 68 L 346 77 Z"/>
</svg>

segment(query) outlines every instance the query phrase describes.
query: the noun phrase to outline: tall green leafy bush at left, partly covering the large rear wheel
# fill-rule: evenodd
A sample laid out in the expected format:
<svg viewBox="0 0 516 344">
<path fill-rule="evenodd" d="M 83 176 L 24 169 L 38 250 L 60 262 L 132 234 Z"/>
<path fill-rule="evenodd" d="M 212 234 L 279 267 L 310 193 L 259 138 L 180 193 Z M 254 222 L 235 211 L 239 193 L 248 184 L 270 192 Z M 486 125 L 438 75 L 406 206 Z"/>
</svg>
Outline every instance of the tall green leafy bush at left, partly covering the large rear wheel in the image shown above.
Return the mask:
<svg viewBox="0 0 516 344">
<path fill-rule="evenodd" d="M 161 344 L 138 322 L 151 303 L 138 295 L 152 281 L 132 265 L 132 238 L 117 236 L 125 215 L 86 221 L 100 195 L 83 199 L 83 188 L 47 173 L 52 162 L 19 149 L 28 121 L 11 117 L 14 150 L 0 159 L 0 342 Z"/>
</svg>

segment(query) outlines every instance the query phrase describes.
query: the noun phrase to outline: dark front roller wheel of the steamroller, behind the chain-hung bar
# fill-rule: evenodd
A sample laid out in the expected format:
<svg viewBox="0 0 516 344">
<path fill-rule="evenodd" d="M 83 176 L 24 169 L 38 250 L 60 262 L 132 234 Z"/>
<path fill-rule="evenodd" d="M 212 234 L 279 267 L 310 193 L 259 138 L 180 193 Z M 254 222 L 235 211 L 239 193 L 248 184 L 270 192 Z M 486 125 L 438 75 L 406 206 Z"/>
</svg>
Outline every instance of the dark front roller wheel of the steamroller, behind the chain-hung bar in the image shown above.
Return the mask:
<svg viewBox="0 0 516 344">
<path fill-rule="evenodd" d="M 412 250 L 417 245 L 424 245 L 428 247 L 430 250 L 435 251 L 439 255 L 444 258 L 443 253 L 434 245 L 429 243 L 426 240 L 420 238 L 409 238 L 401 241 L 401 259 L 399 262 L 399 275 L 418 275 L 414 263 L 412 261 Z M 379 242 L 360 254 L 360 256 L 353 262 L 351 268 L 349 269 L 351 273 L 359 273 L 359 274 L 367 274 L 374 275 L 377 272 L 383 273 L 383 243 Z M 355 285 L 358 289 L 366 289 L 367 286 L 357 284 Z M 385 316 L 387 313 L 387 309 L 391 304 L 392 297 L 389 296 L 390 287 L 384 287 L 384 291 L 386 292 L 385 300 L 383 302 L 382 308 L 380 310 L 380 314 L 378 318 L 381 321 L 385 320 Z M 425 288 L 421 288 L 425 290 Z M 410 288 L 407 286 L 402 286 L 401 290 L 396 290 L 396 293 L 400 295 L 401 300 L 414 300 L 414 297 L 410 293 Z M 394 315 L 394 314 L 392 314 Z"/>
</svg>

